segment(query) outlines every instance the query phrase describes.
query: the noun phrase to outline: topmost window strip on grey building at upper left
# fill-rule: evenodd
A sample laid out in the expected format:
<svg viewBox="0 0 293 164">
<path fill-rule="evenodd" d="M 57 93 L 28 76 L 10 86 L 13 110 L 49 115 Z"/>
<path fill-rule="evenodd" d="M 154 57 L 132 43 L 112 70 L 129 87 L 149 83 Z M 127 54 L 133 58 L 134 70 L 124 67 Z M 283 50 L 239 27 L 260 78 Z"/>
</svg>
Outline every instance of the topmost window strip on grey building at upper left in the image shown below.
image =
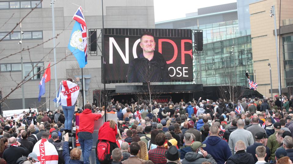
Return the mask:
<svg viewBox="0 0 293 164">
<path fill-rule="evenodd" d="M 6 1 L 0 2 L 0 9 L 24 9 L 24 8 L 34 8 L 41 1 Z M 42 3 L 40 3 L 37 8 L 42 8 Z"/>
</svg>

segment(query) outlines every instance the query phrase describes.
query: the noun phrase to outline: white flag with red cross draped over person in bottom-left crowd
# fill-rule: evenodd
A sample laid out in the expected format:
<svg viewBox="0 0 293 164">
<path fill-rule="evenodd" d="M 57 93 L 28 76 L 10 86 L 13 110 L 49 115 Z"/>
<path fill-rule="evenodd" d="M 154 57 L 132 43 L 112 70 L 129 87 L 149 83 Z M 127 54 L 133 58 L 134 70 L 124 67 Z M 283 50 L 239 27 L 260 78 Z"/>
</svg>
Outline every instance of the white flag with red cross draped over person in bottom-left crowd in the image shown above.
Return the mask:
<svg viewBox="0 0 293 164">
<path fill-rule="evenodd" d="M 58 152 L 55 146 L 46 139 L 41 139 L 34 145 L 33 152 L 37 154 L 36 164 L 58 164 Z"/>
</svg>

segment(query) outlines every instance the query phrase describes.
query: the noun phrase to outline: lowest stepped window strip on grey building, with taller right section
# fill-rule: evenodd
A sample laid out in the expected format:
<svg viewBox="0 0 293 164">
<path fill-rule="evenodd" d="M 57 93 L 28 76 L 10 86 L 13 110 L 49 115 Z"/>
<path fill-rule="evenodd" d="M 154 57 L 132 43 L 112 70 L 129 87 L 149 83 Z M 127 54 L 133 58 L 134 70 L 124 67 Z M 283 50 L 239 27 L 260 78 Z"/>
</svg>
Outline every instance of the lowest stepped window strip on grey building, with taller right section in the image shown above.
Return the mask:
<svg viewBox="0 0 293 164">
<path fill-rule="evenodd" d="M 43 76 L 44 63 L 24 63 L 24 76 L 29 76 L 26 79 L 34 76 L 31 80 L 40 80 Z M 33 69 L 34 68 L 34 69 Z M 21 63 L 0 64 L 0 71 L 21 71 Z"/>
</svg>

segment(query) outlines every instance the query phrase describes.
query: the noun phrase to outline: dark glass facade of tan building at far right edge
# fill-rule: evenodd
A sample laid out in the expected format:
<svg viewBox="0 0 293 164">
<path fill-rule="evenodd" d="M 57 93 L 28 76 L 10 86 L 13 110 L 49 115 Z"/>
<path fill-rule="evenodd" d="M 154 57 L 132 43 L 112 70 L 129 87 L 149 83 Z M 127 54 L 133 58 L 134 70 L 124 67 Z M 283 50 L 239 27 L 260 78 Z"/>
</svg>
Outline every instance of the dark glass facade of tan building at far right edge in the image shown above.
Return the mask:
<svg viewBox="0 0 293 164">
<path fill-rule="evenodd" d="M 284 36 L 283 62 L 286 87 L 293 86 L 293 36 Z"/>
</svg>

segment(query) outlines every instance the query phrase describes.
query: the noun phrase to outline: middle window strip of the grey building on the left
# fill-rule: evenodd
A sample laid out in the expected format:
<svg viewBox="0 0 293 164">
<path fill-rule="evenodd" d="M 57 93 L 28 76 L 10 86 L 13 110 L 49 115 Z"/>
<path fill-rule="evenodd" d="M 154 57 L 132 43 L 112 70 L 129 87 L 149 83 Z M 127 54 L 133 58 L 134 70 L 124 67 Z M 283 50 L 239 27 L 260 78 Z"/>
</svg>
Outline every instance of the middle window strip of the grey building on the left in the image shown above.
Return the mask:
<svg viewBox="0 0 293 164">
<path fill-rule="evenodd" d="M 2 39 L 7 32 L 0 32 L 0 39 Z M 15 40 L 20 39 L 20 32 L 13 32 L 8 34 L 3 40 Z M 43 39 L 43 32 L 42 31 L 24 31 L 22 34 L 22 39 Z"/>
</svg>

